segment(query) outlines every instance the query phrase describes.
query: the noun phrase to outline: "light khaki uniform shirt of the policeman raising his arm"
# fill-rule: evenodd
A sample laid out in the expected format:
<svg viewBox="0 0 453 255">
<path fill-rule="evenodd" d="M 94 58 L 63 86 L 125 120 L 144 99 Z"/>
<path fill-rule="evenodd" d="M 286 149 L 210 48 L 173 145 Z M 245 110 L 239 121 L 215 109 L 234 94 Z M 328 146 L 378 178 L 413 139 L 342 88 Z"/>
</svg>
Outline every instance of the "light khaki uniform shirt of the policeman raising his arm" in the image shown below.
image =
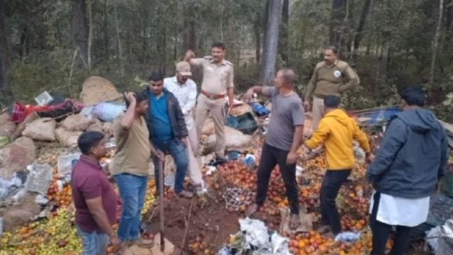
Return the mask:
<svg viewBox="0 0 453 255">
<path fill-rule="evenodd" d="M 224 95 L 226 89 L 234 87 L 234 70 L 231 62 L 224 60 L 215 64 L 212 57 L 194 58 L 190 64 L 203 68 L 202 91 L 213 95 Z"/>
</svg>

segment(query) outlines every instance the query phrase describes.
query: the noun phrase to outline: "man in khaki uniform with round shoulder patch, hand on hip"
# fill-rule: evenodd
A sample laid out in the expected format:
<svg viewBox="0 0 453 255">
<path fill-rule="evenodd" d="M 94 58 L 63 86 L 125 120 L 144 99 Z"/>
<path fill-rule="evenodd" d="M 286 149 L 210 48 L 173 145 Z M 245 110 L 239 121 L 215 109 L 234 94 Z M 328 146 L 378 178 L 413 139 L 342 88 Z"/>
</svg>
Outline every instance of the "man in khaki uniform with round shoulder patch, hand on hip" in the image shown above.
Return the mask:
<svg viewBox="0 0 453 255">
<path fill-rule="evenodd" d="M 343 83 L 345 82 L 345 83 Z M 354 88 L 360 83 L 357 73 L 348 63 L 338 60 L 338 50 L 329 46 L 324 50 L 324 61 L 316 64 L 313 76 L 306 89 L 304 107 L 313 113 L 313 131 L 318 128 L 324 115 L 324 96 L 341 96 L 343 92 Z M 313 96 L 313 103 L 310 103 Z"/>
</svg>

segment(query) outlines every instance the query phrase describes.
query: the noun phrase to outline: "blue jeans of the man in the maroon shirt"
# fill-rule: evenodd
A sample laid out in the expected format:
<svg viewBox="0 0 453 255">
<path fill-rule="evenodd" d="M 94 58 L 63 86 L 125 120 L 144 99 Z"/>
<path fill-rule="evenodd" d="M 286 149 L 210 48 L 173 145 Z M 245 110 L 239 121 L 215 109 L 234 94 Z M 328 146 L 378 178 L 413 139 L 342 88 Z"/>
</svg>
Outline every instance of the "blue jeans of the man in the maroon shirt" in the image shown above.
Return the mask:
<svg viewBox="0 0 453 255">
<path fill-rule="evenodd" d="M 104 255 L 107 254 L 108 235 L 99 232 L 84 232 L 84 230 L 77 227 L 77 233 L 82 239 L 82 246 L 84 247 L 84 255 Z"/>
</svg>

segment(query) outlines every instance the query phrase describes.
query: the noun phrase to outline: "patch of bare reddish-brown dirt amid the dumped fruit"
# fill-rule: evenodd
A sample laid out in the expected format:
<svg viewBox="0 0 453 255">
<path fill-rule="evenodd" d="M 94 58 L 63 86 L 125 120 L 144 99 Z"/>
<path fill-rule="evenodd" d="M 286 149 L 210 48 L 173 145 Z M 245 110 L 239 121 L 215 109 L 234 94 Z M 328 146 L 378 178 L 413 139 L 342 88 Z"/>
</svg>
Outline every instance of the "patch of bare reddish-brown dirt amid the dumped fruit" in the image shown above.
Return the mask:
<svg viewBox="0 0 453 255">
<path fill-rule="evenodd" d="M 217 199 L 214 193 L 205 198 L 166 198 L 164 213 L 164 234 L 176 246 L 175 254 L 195 254 L 190 249 L 194 242 L 215 253 L 228 241 L 230 234 L 239 231 L 239 215 L 226 210 L 224 201 Z M 159 206 L 147 213 L 144 220 L 151 227 L 151 233 L 159 233 Z"/>
</svg>

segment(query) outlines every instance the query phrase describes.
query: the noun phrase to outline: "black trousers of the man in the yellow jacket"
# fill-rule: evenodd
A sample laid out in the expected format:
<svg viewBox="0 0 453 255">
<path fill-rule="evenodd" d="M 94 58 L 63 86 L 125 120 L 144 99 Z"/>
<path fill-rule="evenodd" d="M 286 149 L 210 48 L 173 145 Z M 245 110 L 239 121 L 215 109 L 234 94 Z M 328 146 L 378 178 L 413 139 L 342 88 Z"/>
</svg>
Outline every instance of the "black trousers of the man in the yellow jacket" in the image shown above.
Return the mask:
<svg viewBox="0 0 453 255">
<path fill-rule="evenodd" d="M 341 232 L 340 215 L 335 199 L 350 174 L 351 169 L 327 170 L 321 186 L 321 222 L 323 225 L 331 226 L 333 234 Z"/>
</svg>

